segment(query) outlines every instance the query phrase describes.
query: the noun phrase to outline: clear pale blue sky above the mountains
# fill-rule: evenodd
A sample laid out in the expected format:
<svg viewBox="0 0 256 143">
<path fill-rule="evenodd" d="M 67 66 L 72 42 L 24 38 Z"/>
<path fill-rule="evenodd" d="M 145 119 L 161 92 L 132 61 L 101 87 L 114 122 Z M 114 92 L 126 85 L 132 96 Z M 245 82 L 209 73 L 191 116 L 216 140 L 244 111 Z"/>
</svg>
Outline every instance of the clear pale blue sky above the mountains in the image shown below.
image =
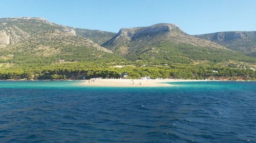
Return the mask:
<svg viewBox="0 0 256 143">
<path fill-rule="evenodd" d="M 0 17 L 44 17 L 73 27 L 118 32 L 122 27 L 178 24 L 188 34 L 256 31 L 254 0 L 5 0 Z"/>
</svg>

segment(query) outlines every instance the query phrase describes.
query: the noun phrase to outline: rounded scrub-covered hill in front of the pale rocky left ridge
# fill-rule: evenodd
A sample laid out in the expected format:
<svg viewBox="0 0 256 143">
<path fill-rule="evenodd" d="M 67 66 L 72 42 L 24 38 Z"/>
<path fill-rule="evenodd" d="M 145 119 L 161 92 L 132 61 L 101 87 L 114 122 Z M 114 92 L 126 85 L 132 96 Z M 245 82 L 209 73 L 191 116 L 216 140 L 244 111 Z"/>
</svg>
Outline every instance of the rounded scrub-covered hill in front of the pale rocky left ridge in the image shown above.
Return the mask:
<svg viewBox="0 0 256 143">
<path fill-rule="evenodd" d="M 18 44 L 2 49 L 6 59 L 18 65 L 50 65 L 54 62 L 121 61 L 120 56 L 100 47 L 91 40 L 65 33 L 41 32 Z"/>
</svg>

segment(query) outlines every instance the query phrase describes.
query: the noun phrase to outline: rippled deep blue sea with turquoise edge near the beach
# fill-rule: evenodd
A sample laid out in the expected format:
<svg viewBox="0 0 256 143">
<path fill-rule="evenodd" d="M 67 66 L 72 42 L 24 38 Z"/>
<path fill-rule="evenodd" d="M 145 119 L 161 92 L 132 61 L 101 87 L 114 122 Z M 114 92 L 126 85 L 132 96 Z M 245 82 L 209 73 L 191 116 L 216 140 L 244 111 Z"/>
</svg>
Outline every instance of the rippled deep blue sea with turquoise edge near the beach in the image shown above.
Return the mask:
<svg viewBox="0 0 256 143">
<path fill-rule="evenodd" d="M 0 81 L 0 142 L 256 142 L 256 82 Z"/>
</svg>

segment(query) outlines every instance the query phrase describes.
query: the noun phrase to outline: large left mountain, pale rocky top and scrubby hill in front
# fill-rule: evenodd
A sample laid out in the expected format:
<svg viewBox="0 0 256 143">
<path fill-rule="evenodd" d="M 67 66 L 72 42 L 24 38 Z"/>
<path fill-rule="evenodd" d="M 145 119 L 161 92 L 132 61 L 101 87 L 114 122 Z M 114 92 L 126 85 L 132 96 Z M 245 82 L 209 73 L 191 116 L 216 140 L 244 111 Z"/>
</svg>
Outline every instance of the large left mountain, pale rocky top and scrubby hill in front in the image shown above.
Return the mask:
<svg viewBox="0 0 256 143">
<path fill-rule="evenodd" d="M 56 61 L 122 59 L 92 40 L 77 35 L 75 28 L 44 18 L 1 18 L 0 25 L 0 61 L 51 64 Z"/>
</svg>

